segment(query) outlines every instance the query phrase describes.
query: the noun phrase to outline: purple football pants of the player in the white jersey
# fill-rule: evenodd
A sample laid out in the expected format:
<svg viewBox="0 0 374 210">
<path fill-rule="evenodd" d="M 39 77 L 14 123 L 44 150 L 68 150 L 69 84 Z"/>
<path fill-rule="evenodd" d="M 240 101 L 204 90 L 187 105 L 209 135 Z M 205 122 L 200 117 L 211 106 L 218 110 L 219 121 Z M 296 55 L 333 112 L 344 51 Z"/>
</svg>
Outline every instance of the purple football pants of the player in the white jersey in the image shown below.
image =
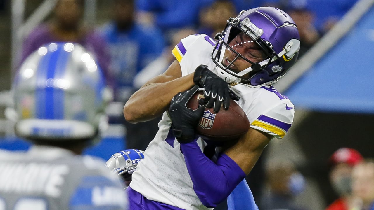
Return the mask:
<svg viewBox="0 0 374 210">
<path fill-rule="evenodd" d="M 184 210 L 165 203 L 148 200 L 144 195 L 130 187 L 126 189 L 126 192 L 129 197 L 129 210 Z"/>
</svg>

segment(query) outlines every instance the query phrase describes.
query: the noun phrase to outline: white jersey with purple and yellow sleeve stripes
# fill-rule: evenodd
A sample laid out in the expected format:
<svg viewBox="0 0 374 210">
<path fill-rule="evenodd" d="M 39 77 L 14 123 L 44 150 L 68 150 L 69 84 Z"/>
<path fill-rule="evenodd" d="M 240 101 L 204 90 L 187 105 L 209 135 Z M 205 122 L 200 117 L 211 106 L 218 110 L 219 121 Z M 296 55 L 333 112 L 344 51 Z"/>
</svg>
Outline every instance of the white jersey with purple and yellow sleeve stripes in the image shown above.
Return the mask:
<svg viewBox="0 0 374 210">
<path fill-rule="evenodd" d="M 182 75 L 193 73 L 201 64 L 216 71 L 211 59 L 215 41 L 205 34 L 190 35 L 172 51 L 179 61 Z M 272 86 L 251 87 L 237 84 L 232 90 L 240 96 L 237 102 L 248 116 L 253 129 L 282 138 L 291 127 L 294 105 Z M 206 143 L 198 139 L 203 151 Z M 130 187 L 148 200 L 159 201 L 186 210 L 207 210 L 193 190 L 180 144 L 175 139 L 167 112 L 159 122 L 159 131 L 145 150 L 132 175 Z M 212 192 L 214 193 L 214 192 Z"/>
</svg>

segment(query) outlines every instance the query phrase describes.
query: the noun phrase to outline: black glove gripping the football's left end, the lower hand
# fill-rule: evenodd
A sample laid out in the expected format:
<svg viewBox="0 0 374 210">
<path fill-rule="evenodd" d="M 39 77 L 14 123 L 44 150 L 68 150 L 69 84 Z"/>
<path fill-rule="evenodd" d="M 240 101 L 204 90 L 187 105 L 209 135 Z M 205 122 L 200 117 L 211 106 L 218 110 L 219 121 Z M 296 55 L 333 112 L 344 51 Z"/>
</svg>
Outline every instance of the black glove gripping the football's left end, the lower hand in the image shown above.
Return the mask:
<svg viewBox="0 0 374 210">
<path fill-rule="evenodd" d="M 195 127 L 205 110 L 205 106 L 200 106 L 196 110 L 186 106 L 197 89 L 199 89 L 199 86 L 194 86 L 190 90 L 178 93 L 171 100 L 169 108 L 169 116 L 172 120 L 171 127 L 179 143 L 188 143 L 195 139 Z"/>
</svg>

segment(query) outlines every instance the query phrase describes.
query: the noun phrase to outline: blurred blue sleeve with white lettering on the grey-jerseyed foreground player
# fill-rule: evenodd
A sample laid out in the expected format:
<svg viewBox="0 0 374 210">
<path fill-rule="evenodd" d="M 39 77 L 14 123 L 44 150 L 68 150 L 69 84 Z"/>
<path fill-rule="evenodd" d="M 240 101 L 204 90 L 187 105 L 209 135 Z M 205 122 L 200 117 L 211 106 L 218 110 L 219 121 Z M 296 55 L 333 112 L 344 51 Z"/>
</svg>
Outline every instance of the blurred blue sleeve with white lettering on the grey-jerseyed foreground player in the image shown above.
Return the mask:
<svg viewBox="0 0 374 210">
<path fill-rule="evenodd" d="M 126 206 L 123 188 L 105 176 L 83 177 L 69 202 L 70 210 L 124 210 Z"/>
</svg>

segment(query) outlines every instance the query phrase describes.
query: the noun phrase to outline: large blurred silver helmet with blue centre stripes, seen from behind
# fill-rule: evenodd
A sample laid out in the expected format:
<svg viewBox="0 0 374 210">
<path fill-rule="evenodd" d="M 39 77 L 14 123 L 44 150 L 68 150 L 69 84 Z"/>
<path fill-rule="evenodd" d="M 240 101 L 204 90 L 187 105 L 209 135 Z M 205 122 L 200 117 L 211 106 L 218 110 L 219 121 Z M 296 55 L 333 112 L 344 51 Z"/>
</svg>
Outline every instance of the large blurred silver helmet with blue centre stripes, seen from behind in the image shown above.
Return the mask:
<svg viewBox="0 0 374 210">
<path fill-rule="evenodd" d="M 43 140 L 93 139 L 111 100 L 95 58 L 80 44 L 50 43 L 23 62 L 13 83 L 15 132 Z"/>
</svg>

